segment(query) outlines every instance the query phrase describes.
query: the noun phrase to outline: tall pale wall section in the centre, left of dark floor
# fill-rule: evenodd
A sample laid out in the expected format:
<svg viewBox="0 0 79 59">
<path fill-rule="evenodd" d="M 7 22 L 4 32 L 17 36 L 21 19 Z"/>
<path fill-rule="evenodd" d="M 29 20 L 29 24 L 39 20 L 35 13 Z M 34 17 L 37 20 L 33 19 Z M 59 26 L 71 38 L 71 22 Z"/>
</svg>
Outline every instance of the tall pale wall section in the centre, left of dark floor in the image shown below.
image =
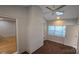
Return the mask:
<svg viewBox="0 0 79 59">
<path fill-rule="evenodd" d="M 34 52 L 43 45 L 43 15 L 37 6 L 29 10 L 28 42 L 29 53 Z"/>
</svg>

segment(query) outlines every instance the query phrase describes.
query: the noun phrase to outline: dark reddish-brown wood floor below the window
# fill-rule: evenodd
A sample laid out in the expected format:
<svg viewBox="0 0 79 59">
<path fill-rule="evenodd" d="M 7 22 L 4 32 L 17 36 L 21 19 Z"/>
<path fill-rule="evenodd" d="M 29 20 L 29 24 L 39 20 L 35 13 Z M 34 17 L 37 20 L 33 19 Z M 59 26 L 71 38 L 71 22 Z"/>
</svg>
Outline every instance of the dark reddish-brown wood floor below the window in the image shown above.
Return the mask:
<svg viewBox="0 0 79 59">
<path fill-rule="evenodd" d="M 76 50 L 73 47 L 66 46 L 60 43 L 49 40 L 44 41 L 44 45 L 33 54 L 75 54 Z"/>
</svg>

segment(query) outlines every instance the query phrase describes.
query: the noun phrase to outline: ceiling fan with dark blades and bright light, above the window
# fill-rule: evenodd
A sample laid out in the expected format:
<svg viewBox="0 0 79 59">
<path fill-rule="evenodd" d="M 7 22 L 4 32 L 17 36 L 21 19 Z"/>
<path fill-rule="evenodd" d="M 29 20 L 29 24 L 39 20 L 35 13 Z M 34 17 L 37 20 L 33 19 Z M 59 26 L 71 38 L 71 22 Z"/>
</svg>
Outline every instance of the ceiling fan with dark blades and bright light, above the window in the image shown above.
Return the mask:
<svg viewBox="0 0 79 59">
<path fill-rule="evenodd" d="M 58 6 L 58 7 L 57 7 Z M 60 10 L 61 8 L 65 7 L 66 5 L 53 5 L 52 7 L 47 6 L 46 8 L 50 11 L 52 11 L 52 15 L 62 15 L 64 13 L 63 10 Z"/>
</svg>

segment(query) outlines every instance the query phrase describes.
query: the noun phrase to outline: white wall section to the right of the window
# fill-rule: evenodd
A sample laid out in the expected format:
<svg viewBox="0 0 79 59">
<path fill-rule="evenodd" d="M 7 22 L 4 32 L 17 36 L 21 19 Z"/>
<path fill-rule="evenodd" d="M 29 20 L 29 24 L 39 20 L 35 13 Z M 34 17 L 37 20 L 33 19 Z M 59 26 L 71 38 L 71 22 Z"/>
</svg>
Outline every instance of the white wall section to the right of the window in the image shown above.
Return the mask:
<svg viewBox="0 0 79 59">
<path fill-rule="evenodd" d="M 68 25 L 66 29 L 66 39 L 64 44 L 72 46 L 77 49 L 78 41 L 78 26 L 77 25 Z"/>
</svg>

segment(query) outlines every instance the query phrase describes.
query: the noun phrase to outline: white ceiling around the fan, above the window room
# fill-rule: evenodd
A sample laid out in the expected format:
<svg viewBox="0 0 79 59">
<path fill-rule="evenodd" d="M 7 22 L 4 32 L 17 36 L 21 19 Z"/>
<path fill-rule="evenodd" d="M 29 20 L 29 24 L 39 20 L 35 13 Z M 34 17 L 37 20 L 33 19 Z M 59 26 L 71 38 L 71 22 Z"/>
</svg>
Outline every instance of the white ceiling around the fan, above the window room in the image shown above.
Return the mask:
<svg viewBox="0 0 79 59">
<path fill-rule="evenodd" d="M 53 5 L 48 6 L 50 8 L 52 8 Z M 44 18 L 46 18 L 47 20 L 53 20 L 56 19 L 57 15 L 56 14 L 52 14 L 55 13 L 56 11 L 51 11 L 49 9 L 47 9 L 47 5 L 45 6 L 40 6 L 44 15 Z M 56 6 L 56 7 L 60 7 L 60 5 Z M 64 11 L 64 15 L 60 16 L 62 19 L 71 19 L 71 18 L 77 18 L 79 16 L 79 6 L 78 5 L 67 5 L 57 11 Z"/>
</svg>

